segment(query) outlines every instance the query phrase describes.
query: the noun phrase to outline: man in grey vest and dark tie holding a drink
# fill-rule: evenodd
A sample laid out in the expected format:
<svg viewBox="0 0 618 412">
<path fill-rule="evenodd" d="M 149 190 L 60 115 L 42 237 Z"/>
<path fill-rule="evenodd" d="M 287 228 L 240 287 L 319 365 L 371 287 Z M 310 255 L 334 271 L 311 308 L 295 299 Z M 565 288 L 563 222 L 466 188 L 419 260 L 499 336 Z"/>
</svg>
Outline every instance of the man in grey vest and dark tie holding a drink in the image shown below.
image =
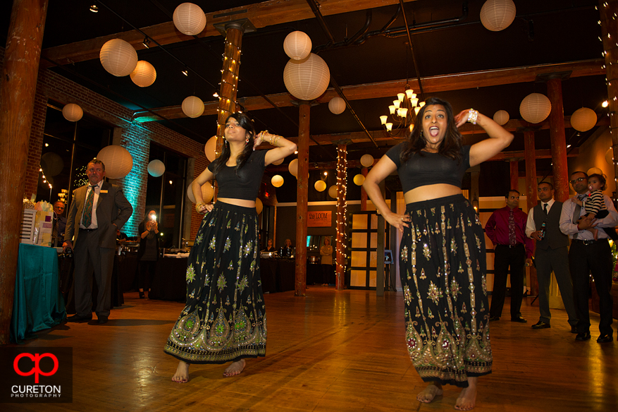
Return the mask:
<svg viewBox="0 0 618 412">
<path fill-rule="evenodd" d="M 548 182 L 538 183 L 540 203 L 528 213 L 526 236 L 536 239 L 534 262 L 538 278 L 538 322 L 532 329 L 551 327 L 550 319 L 550 281 L 552 271 L 555 274 L 564 309 L 569 316 L 571 333 L 577 333 L 577 316 L 573 303 L 573 282 L 569 272 L 569 236 L 560 231 L 560 214 L 562 202 L 554 200 L 554 186 Z M 543 236 L 543 224 L 545 234 Z"/>
</svg>

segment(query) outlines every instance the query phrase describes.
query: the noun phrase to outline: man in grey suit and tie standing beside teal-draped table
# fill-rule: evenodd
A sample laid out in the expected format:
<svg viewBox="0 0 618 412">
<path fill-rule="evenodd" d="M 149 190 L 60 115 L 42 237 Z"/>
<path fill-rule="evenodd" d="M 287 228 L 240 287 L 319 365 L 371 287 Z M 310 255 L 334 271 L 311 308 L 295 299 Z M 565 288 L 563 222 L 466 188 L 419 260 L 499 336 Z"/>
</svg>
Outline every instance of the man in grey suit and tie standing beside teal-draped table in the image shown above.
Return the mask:
<svg viewBox="0 0 618 412">
<path fill-rule="evenodd" d="M 89 185 L 75 189 L 67 216 L 63 248 L 73 249 L 75 235 L 75 310 L 68 322 L 92 319 L 92 269 L 97 281 L 96 313 L 104 324 L 111 306 L 111 271 L 116 250 L 116 229 L 133 213 L 133 207 L 115 185 L 105 182 L 105 165 L 100 160 L 88 163 Z"/>
</svg>

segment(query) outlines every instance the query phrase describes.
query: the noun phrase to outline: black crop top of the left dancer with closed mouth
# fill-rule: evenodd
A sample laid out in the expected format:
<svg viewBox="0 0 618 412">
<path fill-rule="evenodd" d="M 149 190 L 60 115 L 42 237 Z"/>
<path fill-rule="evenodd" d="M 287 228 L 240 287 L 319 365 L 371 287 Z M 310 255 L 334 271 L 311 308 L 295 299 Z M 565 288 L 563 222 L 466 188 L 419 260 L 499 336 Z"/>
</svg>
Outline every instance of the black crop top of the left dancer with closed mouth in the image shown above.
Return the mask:
<svg viewBox="0 0 618 412">
<path fill-rule="evenodd" d="M 264 175 L 266 164 L 264 158 L 268 150 L 256 150 L 253 152 L 245 166 L 242 166 L 236 174 L 236 166 L 224 165 L 215 180 L 218 183 L 218 198 L 254 200 L 259 192 L 259 185 Z M 216 162 L 208 165 L 208 169 L 214 172 Z"/>
</svg>

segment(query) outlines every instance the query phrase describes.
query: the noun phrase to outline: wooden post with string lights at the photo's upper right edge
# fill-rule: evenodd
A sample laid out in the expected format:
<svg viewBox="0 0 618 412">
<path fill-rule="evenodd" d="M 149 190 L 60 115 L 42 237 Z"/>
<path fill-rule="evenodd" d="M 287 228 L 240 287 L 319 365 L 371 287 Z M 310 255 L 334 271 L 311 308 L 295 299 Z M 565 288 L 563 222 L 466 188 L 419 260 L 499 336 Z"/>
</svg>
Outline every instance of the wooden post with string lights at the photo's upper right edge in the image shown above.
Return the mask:
<svg viewBox="0 0 618 412">
<path fill-rule="evenodd" d="M 605 51 L 605 68 L 607 70 L 607 102 L 610 103 L 610 133 L 612 133 L 612 147 L 614 147 L 614 184 L 618 181 L 618 0 L 599 1 L 601 20 L 601 38 Z M 618 185 L 614 190 L 618 191 Z"/>
</svg>

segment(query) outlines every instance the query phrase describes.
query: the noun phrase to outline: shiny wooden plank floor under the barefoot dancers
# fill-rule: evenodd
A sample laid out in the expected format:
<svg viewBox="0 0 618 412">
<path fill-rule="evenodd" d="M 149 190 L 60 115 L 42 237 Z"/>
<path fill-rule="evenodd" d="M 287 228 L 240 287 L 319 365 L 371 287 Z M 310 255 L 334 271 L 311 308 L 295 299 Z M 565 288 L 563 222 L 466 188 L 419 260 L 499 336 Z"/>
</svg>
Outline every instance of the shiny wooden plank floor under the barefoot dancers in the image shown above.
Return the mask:
<svg viewBox="0 0 618 412">
<path fill-rule="evenodd" d="M 126 293 L 107 325 L 61 325 L 27 342 L 73 347 L 73 404 L 0 410 L 452 411 L 455 387 L 432 404 L 416 401 L 424 384 L 404 346 L 401 293 L 311 286 L 305 298 L 266 295 L 266 305 L 266 358 L 228 378 L 223 365 L 193 365 L 190 382 L 176 384 L 178 361 L 162 348 L 183 304 Z M 598 315 L 593 339 L 577 342 L 564 311 L 553 310 L 542 330 L 531 329 L 538 308 L 526 299 L 522 313 L 526 324 L 508 315 L 491 323 L 494 372 L 479 380 L 476 411 L 617 411 L 618 342 L 595 342 Z"/>
</svg>

